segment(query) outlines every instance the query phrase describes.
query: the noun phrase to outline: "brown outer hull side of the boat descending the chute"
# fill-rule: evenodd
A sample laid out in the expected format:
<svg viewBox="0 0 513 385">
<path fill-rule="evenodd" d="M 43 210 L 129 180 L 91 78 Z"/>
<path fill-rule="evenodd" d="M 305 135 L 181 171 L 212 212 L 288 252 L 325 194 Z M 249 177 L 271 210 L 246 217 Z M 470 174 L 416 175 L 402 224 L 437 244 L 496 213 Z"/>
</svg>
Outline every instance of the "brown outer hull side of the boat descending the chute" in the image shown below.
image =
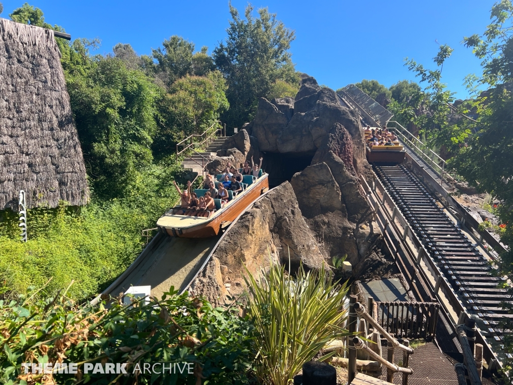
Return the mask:
<svg viewBox="0 0 513 385">
<path fill-rule="evenodd" d="M 214 215 L 210 221 L 199 223 L 198 225 L 181 227 L 163 226 L 161 229 L 172 237 L 181 238 L 208 238 L 219 234 L 221 226 L 225 222 L 231 222 L 239 216 L 242 210 L 251 204 L 255 199 L 269 189 L 268 174 L 264 174 L 257 179 L 254 186 L 248 188 L 243 195 L 235 198 L 222 209 L 219 214 Z"/>
</svg>

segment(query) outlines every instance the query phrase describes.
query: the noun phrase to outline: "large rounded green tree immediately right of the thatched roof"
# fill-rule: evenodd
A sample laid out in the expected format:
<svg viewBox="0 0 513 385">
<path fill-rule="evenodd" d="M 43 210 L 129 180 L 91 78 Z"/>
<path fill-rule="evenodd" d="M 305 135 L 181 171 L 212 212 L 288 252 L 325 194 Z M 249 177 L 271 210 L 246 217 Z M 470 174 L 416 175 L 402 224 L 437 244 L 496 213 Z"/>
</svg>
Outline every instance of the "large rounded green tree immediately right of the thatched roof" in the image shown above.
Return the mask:
<svg viewBox="0 0 513 385">
<path fill-rule="evenodd" d="M 158 90 L 144 73 L 115 57 L 89 60 L 84 74 L 66 73 L 71 108 L 95 194 L 123 197 L 133 187 L 136 171 L 153 161 Z"/>
</svg>

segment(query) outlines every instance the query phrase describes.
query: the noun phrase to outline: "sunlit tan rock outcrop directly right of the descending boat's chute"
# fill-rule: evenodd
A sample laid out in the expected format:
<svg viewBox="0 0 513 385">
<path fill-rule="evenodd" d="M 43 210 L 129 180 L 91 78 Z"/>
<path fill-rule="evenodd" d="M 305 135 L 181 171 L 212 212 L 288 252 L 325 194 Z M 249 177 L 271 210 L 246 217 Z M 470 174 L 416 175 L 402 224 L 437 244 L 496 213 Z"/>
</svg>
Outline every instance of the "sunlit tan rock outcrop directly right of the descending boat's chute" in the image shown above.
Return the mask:
<svg viewBox="0 0 513 385">
<path fill-rule="evenodd" d="M 307 269 L 318 269 L 324 263 L 289 182 L 270 190 L 232 225 L 194 281 L 192 292 L 205 295 L 211 303 L 223 304 L 227 283 L 231 295 L 245 288 L 244 266 L 256 273 L 271 260 L 287 266 L 290 261 L 292 269 L 300 262 Z"/>
</svg>

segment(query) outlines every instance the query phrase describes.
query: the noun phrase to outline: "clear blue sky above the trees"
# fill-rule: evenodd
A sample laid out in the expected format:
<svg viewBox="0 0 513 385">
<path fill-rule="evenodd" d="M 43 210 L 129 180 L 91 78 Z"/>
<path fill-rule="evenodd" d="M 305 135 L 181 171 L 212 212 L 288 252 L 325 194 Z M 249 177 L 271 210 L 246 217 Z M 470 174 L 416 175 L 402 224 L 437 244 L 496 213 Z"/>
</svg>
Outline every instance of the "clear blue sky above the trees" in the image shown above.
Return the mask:
<svg viewBox="0 0 513 385">
<path fill-rule="evenodd" d="M 45 20 L 63 26 L 72 38 L 98 37 L 100 53 L 116 43 L 129 43 L 139 54 L 150 54 L 165 38 L 181 35 L 196 49 L 209 52 L 226 37 L 230 18 L 227 1 L 119 1 L 27 0 L 41 8 Z M 0 0 L 1 17 L 25 0 Z M 495 0 L 255 0 L 255 8 L 268 7 L 288 28 L 294 29 L 292 60 L 299 71 L 320 84 L 340 88 L 362 79 L 390 86 L 415 79 L 406 67 L 410 57 L 428 68 L 440 44 L 455 51 L 443 69 L 443 80 L 457 97 L 466 97 L 463 78 L 480 73 L 479 60 L 465 48 L 463 36 L 482 33 L 489 24 Z M 243 14 L 247 2 L 233 0 Z"/>
</svg>

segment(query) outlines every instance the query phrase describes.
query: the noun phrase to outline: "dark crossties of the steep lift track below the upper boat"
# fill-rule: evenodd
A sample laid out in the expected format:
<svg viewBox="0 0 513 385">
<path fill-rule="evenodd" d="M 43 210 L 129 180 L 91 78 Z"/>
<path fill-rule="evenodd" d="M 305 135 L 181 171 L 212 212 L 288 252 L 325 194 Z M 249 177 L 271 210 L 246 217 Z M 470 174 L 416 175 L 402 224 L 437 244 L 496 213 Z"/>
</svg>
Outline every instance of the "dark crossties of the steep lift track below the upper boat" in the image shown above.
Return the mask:
<svg viewBox="0 0 513 385">
<path fill-rule="evenodd" d="M 438 265 L 469 314 L 479 317 L 488 338 L 500 342 L 501 302 L 511 300 L 499 288 L 502 277 L 492 276 L 486 259 L 444 213 L 427 188 L 404 165 L 373 165 L 374 172 L 396 202 L 430 257 Z"/>
</svg>

